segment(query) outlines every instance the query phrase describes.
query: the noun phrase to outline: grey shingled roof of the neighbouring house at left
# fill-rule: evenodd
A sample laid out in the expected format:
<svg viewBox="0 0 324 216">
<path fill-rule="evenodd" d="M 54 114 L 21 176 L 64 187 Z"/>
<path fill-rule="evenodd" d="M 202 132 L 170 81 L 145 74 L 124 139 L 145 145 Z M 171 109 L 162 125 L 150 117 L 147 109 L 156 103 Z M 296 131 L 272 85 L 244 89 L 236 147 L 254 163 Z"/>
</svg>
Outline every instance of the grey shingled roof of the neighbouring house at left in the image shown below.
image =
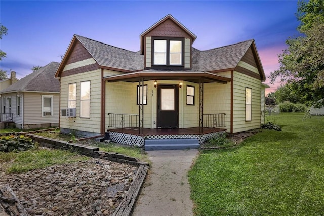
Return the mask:
<svg viewBox="0 0 324 216">
<path fill-rule="evenodd" d="M 55 79 L 54 74 L 60 63 L 51 62 L 48 65 L 38 69 L 25 76 L 8 88 L 1 94 L 11 92 L 60 92 L 60 82 Z"/>
</svg>

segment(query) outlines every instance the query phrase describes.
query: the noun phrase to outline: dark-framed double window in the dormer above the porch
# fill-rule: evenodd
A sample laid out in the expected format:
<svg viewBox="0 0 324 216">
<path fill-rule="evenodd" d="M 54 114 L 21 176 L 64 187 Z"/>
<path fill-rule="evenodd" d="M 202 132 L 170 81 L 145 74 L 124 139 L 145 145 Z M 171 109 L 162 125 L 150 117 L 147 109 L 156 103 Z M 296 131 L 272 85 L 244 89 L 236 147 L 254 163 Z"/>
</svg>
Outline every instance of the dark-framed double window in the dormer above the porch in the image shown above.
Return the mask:
<svg viewBox="0 0 324 216">
<path fill-rule="evenodd" d="M 183 38 L 152 38 L 152 62 L 153 67 L 161 69 L 181 69 L 184 62 Z M 172 67 L 174 66 L 174 67 Z"/>
</svg>

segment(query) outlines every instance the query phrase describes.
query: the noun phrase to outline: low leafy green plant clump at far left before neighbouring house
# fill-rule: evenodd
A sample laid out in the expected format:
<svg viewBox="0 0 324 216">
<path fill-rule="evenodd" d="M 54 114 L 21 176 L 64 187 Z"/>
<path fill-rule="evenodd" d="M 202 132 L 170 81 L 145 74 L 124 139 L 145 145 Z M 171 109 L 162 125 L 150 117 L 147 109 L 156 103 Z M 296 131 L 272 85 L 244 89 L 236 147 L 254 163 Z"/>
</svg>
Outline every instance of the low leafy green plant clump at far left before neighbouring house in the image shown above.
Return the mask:
<svg viewBox="0 0 324 216">
<path fill-rule="evenodd" d="M 13 150 L 24 151 L 33 148 L 34 144 L 29 137 L 25 135 L 7 135 L 0 136 L 0 151 L 10 152 Z"/>
</svg>

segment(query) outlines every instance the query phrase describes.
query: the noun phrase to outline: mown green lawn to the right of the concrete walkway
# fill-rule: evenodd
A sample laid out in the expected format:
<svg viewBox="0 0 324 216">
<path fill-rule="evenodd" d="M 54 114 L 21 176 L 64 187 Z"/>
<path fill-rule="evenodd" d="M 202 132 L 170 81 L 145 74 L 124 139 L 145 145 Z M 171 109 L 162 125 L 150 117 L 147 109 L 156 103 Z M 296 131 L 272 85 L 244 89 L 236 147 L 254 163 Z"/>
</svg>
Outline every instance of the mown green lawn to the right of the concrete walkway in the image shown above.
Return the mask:
<svg viewBox="0 0 324 216">
<path fill-rule="evenodd" d="M 196 215 L 323 215 L 324 118 L 281 113 L 282 131 L 201 151 L 189 171 Z"/>
</svg>

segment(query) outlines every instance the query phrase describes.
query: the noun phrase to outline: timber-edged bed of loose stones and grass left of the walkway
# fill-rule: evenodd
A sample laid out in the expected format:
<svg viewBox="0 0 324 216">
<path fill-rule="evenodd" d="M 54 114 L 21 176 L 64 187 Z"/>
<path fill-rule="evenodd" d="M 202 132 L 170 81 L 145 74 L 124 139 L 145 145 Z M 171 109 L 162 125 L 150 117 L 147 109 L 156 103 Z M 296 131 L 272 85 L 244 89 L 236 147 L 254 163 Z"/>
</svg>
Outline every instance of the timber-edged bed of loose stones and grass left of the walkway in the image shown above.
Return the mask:
<svg viewBox="0 0 324 216">
<path fill-rule="evenodd" d="M 29 215 L 112 215 L 137 170 L 44 147 L 0 152 L 0 185 L 13 189 Z"/>
</svg>

